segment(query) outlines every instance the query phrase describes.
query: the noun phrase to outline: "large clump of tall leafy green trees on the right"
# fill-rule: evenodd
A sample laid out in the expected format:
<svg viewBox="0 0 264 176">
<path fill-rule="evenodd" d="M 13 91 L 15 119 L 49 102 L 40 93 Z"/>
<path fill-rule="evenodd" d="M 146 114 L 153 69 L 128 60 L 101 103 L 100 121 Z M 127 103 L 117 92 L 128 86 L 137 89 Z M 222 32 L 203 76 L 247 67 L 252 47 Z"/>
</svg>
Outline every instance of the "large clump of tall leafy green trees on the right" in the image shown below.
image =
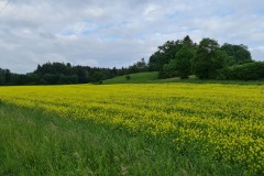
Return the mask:
<svg viewBox="0 0 264 176">
<path fill-rule="evenodd" d="M 160 78 L 188 78 L 196 75 L 200 79 L 216 79 L 218 73 L 230 66 L 253 63 L 248 46 L 202 38 L 196 44 L 187 35 L 183 40 L 168 41 L 158 46 L 150 57 L 150 70 L 160 72 Z M 223 69 L 224 70 L 224 69 Z"/>
</svg>

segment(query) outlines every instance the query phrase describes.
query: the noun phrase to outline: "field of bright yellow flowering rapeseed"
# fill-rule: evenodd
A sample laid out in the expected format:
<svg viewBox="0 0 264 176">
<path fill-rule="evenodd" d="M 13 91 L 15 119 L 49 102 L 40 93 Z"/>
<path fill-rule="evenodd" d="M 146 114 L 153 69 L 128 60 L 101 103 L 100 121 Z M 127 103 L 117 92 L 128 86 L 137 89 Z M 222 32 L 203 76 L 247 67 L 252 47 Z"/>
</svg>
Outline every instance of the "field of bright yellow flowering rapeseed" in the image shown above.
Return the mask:
<svg viewBox="0 0 264 176">
<path fill-rule="evenodd" d="M 218 84 L 0 87 L 1 101 L 81 118 L 264 174 L 264 86 Z"/>
</svg>

